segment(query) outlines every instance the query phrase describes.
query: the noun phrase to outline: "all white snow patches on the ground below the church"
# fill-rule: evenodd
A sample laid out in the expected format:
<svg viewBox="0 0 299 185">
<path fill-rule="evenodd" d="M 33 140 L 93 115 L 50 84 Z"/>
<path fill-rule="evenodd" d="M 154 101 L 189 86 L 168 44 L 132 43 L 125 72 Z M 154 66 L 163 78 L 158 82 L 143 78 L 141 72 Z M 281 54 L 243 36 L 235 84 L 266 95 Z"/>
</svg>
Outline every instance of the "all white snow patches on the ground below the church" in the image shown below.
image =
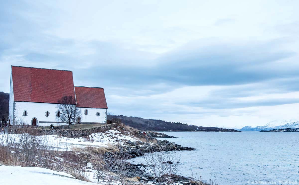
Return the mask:
<svg viewBox="0 0 299 185">
<path fill-rule="evenodd" d="M 26 134 L 26 133 L 25 133 Z M 15 138 L 18 142 L 20 134 L 0 134 L 0 142 L 5 145 L 5 138 Z M 110 145 L 126 145 L 124 142 L 141 141 L 129 132 L 121 133 L 116 128 L 112 128 L 103 133 L 93 133 L 86 137 L 67 138 L 57 135 L 37 136 L 43 137 L 42 139 L 48 140 L 48 144 L 53 147 L 53 150 L 71 151 L 74 148 L 84 148 L 89 146 L 94 147 L 109 147 Z M 4 141 L 4 142 L 3 142 Z M 76 185 L 76 184 L 95 184 L 96 178 L 94 177 L 93 170 L 87 170 L 84 172 L 86 178 L 94 183 L 80 181 L 75 179 L 72 175 L 64 172 L 56 172 L 53 170 L 39 168 L 39 167 L 13 167 L 13 166 L 1 166 L 1 182 L 4 184 L 22 184 L 22 185 Z M 2 178 L 2 176 L 4 178 Z M 16 178 L 16 176 L 18 178 Z M 131 184 L 140 183 L 140 181 Z M 101 184 L 101 183 L 100 183 Z M 102 182 L 103 185 L 120 185 L 119 181 L 114 180 L 111 182 Z"/>
</svg>

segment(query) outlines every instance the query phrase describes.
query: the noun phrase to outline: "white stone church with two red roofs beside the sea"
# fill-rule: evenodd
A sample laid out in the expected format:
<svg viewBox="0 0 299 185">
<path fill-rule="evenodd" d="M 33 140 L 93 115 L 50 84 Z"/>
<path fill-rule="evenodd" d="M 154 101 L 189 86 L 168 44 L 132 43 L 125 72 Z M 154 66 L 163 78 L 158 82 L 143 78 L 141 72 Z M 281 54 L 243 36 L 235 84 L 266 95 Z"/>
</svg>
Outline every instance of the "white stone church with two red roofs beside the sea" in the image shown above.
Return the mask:
<svg viewBox="0 0 299 185">
<path fill-rule="evenodd" d="M 65 125 L 56 119 L 57 101 L 76 98 L 81 116 L 77 123 L 106 123 L 107 102 L 103 88 L 74 86 L 73 72 L 57 69 L 11 66 L 9 123 L 17 125 Z"/>
</svg>

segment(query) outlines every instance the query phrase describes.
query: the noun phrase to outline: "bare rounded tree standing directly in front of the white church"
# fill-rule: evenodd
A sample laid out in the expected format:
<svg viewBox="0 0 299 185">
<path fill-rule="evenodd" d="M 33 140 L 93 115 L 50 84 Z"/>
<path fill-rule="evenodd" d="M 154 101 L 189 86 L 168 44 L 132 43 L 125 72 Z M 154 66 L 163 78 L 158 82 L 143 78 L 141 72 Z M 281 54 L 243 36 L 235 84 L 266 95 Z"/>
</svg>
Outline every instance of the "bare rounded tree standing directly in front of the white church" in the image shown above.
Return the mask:
<svg viewBox="0 0 299 185">
<path fill-rule="evenodd" d="M 77 108 L 76 99 L 73 96 L 64 96 L 57 102 L 56 120 L 68 124 L 68 129 L 70 129 L 70 125 L 81 116 L 81 109 Z"/>
</svg>

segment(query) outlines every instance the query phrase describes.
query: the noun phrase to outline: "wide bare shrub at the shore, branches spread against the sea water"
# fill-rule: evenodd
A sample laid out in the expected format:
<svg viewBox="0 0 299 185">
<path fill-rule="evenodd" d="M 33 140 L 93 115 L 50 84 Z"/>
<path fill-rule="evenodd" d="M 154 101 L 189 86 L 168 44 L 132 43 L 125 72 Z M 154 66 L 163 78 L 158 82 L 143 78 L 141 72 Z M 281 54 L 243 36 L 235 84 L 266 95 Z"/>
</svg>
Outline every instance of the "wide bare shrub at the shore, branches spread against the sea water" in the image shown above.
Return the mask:
<svg viewBox="0 0 299 185">
<path fill-rule="evenodd" d="M 175 153 L 160 152 L 144 155 L 144 160 L 157 178 L 159 185 L 163 184 L 171 176 L 179 170 L 180 158 Z"/>
</svg>

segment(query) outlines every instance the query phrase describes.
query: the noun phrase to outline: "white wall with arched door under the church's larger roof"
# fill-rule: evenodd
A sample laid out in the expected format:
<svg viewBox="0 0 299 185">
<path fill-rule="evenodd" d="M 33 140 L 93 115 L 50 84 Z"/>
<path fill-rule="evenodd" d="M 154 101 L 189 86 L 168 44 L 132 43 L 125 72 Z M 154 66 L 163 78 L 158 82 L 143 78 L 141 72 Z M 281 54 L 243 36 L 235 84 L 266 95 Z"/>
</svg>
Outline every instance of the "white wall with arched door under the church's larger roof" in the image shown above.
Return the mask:
<svg viewBox="0 0 299 185">
<path fill-rule="evenodd" d="M 32 119 L 36 118 L 37 126 L 50 126 L 53 124 L 66 125 L 64 123 L 57 123 L 56 108 L 54 103 L 35 103 L 35 102 L 15 102 L 15 119 L 22 119 L 25 124 L 32 125 Z M 27 116 L 23 116 L 24 111 L 27 111 Z M 49 111 L 49 116 L 46 112 Z"/>
</svg>

